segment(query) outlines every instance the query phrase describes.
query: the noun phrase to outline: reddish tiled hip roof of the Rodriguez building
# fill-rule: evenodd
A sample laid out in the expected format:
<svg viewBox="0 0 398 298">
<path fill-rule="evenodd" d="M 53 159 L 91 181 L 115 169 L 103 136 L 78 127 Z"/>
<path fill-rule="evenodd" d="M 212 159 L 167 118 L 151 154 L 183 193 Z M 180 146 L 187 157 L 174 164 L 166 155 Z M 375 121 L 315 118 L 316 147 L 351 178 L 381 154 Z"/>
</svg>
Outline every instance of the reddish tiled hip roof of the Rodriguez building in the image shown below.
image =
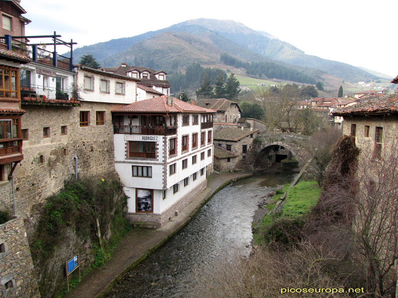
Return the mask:
<svg viewBox="0 0 398 298">
<path fill-rule="evenodd" d="M 157 113 L 215 113 L 215 111 L 194 106 L 174 98 L 174 105 L 167 104 L 167 96 L 159 96 L 113 108 L 111 112 L 157 112 Z"/>
</svg>

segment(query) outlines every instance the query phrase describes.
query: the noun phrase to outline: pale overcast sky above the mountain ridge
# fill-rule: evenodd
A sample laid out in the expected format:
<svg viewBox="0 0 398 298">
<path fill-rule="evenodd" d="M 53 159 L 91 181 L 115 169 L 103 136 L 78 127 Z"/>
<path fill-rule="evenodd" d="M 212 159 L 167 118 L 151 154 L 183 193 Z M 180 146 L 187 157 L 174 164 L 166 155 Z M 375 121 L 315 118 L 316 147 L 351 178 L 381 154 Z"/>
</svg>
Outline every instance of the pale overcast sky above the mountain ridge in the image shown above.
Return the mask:
<svg viewBox="0 0 398 298">
<path fill-rule="evenodd" d="M 232 19 L 308 55 L 398 75 L 393 0 L 21 0 L 26 35 L 57 31 L 78 47 L 135 36 L 196 18 Z"/>
</svg>

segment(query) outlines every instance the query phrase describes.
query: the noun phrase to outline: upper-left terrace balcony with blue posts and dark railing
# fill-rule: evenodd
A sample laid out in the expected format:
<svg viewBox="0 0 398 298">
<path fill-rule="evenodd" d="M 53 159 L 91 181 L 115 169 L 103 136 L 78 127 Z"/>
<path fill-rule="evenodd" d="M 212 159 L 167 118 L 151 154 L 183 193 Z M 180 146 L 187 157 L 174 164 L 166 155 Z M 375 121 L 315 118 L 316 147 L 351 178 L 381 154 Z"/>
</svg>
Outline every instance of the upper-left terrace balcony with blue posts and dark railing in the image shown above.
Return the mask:
<svg viewBox="0 0 398 298">
<path fill-rule="evenodd" d="M 5 35 L 4 37 L 0 37 L 0 47 L 26 56 L 35 62 L 59 67 L 68 71 L 73 71 L 73 63 L 71 58 L 58 55 L 56 51 L 50 52 L 45 49 L 39 48 L 37 44 L 30 45 L 15 38 L 12 38 L 9 35 Z"/>
</svg>

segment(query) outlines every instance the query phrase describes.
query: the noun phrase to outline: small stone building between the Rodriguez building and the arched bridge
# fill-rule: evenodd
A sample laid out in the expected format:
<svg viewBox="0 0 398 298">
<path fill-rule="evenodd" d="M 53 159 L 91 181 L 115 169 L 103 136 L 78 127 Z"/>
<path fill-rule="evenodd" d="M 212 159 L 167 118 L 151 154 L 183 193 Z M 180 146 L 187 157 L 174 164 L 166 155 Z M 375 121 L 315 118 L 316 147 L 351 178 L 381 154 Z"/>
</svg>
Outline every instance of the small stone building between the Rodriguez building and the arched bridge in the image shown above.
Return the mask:
<svg viewBox="0 0 398 298">
<path fill-rule="evenodd" d="M 257 134 L 258 130 L 243 127 L 225 127 L 214 132 L 214 148 L 217 148 L 214 149 L 214 170 L 252 169 L 256 158 L 253 140 Z"/>
</svg>

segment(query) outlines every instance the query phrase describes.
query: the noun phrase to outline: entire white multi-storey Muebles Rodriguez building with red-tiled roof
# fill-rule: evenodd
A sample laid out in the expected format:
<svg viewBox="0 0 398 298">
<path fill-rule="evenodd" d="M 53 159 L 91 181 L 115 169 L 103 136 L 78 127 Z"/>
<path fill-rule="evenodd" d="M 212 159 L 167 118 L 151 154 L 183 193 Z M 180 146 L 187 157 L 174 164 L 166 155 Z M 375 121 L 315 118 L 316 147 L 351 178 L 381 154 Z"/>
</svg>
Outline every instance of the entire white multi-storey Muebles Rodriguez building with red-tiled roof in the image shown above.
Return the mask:
<svg viewBox="0 0 398 298">
<path fill-rule="evenodd" d="M 206 187 L 214 113 L 171 96 L 112 109 L 115 169 L 132 223 L 160 227 Z"/>
</svg>

